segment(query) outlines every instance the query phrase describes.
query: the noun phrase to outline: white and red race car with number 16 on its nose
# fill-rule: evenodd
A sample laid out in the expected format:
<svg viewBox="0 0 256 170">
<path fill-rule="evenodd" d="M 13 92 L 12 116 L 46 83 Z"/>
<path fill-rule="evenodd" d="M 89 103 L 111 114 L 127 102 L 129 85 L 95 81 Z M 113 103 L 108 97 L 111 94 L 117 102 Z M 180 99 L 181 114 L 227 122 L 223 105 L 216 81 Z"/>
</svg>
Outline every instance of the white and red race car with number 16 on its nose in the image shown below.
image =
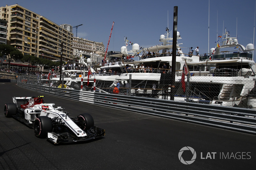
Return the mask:
<svg viewBox="0 0 256 170">
<path fill-rule="evenodd" d="M 46 137 L 54 144 L 105 136 L 104 129 L 94 126 L 92 115 L 84 113 L 69 117 L 64 108 L 54 108 L 54 103 L 44 103 L 43 97 L 13 97 L 13 103 L 4 105 L 4 115 L 34 128 L 36 137 Z"/>
</svg>

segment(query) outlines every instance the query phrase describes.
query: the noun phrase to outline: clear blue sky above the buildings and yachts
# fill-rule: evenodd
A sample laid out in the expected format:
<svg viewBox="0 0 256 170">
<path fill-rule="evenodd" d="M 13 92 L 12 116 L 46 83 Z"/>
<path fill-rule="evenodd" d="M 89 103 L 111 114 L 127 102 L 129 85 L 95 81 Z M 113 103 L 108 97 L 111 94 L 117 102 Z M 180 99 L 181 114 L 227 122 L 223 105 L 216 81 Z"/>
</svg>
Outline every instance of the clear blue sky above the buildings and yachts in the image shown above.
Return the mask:
<svg viewBox="0 0 256 170">
<path fill-rule="evenodd" d="M 108 51 L 120 51 L 124 37 L 145 48 L 160 44 L 160 35 L 168 26 L 167 13 L 171 31 L 173 7 L 178 6 L 178 31 L 182 37 L 178 43 L 187 48 L 199 46 L 200 54 L 208 52 L 208 0 L 1 0 L 0 6 L 16 3 L 58 25 L 84 24 L 78 27 L 78 37 L 103 42 L 105 49 L 114 21 Z M 222 35 L 223 23 L 224 30 L 227 28 L 230 36 L 236 37 L 236 20 L 238 43 L 253 43 L 254 13 L 254 0 L 210 0 L 210 48 L 216 46 L 217 32 Z"/>
</svg>

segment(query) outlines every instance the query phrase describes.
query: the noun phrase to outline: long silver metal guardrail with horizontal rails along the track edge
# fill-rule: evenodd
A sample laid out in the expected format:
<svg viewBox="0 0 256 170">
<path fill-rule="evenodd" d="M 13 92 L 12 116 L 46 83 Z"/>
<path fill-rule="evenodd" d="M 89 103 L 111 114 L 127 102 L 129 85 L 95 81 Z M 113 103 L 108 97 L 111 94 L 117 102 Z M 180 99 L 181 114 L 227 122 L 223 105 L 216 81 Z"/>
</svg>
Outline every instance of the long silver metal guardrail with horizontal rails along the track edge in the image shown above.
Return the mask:
<svg viewBox="0 0 256 170">
<path fill-rule="evenodd" d="M 17 84 L 29 90 L 66 99 L 256 135 L 254 109 L 86 92 L 21 82 Z"/>
</svg>

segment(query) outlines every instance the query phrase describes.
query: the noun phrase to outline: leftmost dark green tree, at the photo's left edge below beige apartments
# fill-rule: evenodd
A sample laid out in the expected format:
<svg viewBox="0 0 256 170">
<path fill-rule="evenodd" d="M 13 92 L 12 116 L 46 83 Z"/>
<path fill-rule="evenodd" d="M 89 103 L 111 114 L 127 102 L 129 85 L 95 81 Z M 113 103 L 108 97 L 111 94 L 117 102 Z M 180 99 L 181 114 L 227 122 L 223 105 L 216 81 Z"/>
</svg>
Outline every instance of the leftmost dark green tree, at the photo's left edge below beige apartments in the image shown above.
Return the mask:
<svg viewBox="0 0 256 170">
<path fill-rule="evenodd" d="M 9 62 L 9 71 L 11 67 L 11 60 L 15 59 L 22 59 L 23 54 L 16 48 L 12 47 L 11 45 L 8 44 L 0 44 L 0 55 L 3 56 L 5 55 L 8 59 Z"/>
</svg>

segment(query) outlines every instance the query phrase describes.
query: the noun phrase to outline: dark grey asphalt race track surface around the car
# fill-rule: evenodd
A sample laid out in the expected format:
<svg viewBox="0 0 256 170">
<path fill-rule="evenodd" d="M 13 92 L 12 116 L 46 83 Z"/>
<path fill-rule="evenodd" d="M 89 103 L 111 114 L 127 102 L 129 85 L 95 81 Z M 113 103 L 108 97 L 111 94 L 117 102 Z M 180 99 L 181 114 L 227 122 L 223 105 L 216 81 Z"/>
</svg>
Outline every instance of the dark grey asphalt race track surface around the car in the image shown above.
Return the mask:
<svg viewBox="0 0 256 170">
<path fill-rule="evenodd" d="M 0 89 L 0 169 L 255 169 L 254 135 L 61 99 L 15 83 L 1 83 Z M 106 136 L 55 146 L 4 117 L 13 96 L 38 95 L 71 116 L 90 113 Z M 179 160 L 185 146 L 196 152 L 190 165 Z M 193 158 L 189 150 L 181 153 L 184 161 Z"/>
</svg>

